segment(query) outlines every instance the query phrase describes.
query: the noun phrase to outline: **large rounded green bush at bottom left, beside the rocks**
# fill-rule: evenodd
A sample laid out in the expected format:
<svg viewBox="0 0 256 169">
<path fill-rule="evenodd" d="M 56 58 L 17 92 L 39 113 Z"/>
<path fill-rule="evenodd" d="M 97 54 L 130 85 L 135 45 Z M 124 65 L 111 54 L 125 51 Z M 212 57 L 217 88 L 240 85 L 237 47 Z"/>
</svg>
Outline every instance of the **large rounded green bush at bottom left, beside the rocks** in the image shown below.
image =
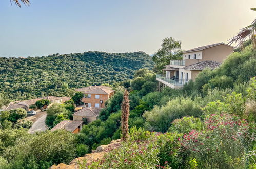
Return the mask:
<svg viewBox="0 0 256 169">
<path fill-rule="evenodd" d="M 25 168 L 28 165 L 49 168 L 53 164 L 69 163 L 75 153 L 74 135 L 57 130 L 23 137 L 9 147 L 3 157 L 10 161 L 11 168 Z"/>
</svg>

